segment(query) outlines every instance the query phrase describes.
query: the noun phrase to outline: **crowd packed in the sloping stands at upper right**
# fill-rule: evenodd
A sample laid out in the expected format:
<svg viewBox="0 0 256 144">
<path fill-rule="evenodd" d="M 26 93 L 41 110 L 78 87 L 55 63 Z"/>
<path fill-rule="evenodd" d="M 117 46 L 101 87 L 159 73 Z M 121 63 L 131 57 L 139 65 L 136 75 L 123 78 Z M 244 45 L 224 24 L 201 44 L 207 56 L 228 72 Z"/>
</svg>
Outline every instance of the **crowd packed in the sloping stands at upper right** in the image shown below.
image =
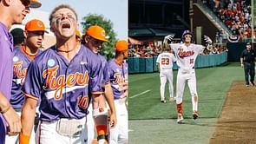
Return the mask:
<svg viewBox="0 0 256 144">
<path fill-rule="evenodd" d="M 232 31 L 233 36 L 239 37 L 239 41 L 251 38 L 251 0 L 209 0 L 205 3 Z"/>
</svg>

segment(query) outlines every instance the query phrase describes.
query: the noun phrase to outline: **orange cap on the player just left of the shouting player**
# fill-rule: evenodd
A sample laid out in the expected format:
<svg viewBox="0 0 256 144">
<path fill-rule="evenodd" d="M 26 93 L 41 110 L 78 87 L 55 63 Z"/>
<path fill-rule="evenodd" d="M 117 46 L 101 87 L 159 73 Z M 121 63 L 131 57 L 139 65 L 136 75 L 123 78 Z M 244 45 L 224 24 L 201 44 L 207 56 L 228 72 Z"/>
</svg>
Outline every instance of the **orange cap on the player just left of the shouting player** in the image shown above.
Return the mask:
<svg viewBox="0 0 256 144">
<path fill-rule="evenodd" d="M 43 22 L 38 19 L 33 19 L 30 22 L 26 23 L 25 30 L 26 31 L 44 31 L 46 33 L 49 33 L 48 31 L 46 31 Z"/>
</svg>

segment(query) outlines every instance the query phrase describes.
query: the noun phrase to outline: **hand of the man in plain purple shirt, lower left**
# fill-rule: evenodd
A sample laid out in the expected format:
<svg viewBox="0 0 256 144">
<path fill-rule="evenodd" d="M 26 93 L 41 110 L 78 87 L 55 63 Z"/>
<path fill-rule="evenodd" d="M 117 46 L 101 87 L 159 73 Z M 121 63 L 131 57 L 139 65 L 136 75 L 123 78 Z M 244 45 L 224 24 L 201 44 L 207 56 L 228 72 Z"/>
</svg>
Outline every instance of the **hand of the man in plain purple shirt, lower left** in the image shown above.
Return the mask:
<svg viewBox="0 0 256 144">
<path fill-rule="evenodd" d="M 22 123 L 20 116 L 16 114 L 16 111 L 10 107 L 10 109 L 3 114 L 4 119 L 7 121 L 7 134 L 10 136 L 19 134 L 22 129 Z"/>
</svg>

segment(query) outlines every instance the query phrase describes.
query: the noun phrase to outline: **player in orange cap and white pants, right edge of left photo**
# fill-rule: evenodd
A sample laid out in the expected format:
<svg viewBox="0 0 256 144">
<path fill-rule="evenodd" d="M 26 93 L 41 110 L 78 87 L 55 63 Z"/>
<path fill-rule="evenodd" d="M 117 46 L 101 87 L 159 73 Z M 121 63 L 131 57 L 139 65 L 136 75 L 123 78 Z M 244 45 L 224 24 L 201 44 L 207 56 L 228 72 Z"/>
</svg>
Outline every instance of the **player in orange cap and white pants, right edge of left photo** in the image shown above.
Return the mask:
<svg viewBox="0 0 256 144">
<path fill-rule="evenodd" d="M 110 143 L 128 142 L 128 43 L 120 40 L 115 43 L 115 58 L 108 61 L 111 87 L 114 93 L 117 123 L 110 129 Z"/>
</svg>

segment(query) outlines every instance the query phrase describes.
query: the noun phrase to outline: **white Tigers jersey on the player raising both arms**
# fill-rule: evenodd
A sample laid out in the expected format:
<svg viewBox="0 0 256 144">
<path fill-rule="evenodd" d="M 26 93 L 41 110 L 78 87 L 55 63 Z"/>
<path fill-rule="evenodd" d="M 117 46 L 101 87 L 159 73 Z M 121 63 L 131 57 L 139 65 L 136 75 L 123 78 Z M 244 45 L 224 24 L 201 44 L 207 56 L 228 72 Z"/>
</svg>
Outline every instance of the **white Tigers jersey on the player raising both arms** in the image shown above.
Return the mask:
<svg viewBox="0 0 256 144">
<path fill-rule="evenodd" d="M 171 43 L 177 58 L 177 65 L 181 69 L 194 69 L 196 57 L 206 48 L 199 44 L 191 43 L 188 47 L 184 43 Z"/>
</svg>

